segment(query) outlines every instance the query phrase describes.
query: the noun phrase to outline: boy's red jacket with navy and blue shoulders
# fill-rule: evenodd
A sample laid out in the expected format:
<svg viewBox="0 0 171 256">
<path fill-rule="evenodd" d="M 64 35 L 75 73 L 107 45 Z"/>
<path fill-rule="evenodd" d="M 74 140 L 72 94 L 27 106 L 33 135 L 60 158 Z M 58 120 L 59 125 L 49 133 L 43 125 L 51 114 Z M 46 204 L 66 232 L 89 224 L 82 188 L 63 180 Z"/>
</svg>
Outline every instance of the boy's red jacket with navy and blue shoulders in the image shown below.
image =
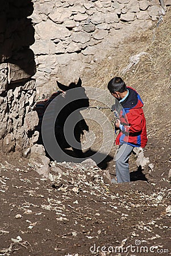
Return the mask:
<svg viewBox="0 0 171 256">
<path fill-rule="evenodd" d="M 129 94 L 126 100 L 116 100 L 115 109 L 120 116 L 120 132 L 116 137 L 116 145 L 127 143 L 134 147 L 145 147 L 147 144 L 147 130 L 143 112 L 143 101 L 139 94 L 131 87 L 127 87 Z"/>
</svg>

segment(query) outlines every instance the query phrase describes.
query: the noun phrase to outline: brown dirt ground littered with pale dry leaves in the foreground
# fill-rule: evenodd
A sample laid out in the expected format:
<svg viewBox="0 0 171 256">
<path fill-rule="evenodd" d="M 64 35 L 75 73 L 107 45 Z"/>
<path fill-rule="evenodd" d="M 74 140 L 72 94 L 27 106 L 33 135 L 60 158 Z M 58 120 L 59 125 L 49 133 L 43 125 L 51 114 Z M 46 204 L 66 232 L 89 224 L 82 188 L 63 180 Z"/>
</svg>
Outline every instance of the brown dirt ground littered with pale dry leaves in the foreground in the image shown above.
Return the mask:
<svg viewBox="0 0 171 256">
<path fill-rule="evenodd" d="M 94 166 L 57 164 L 52 183 L 22 159 L 1 159 L 0 255 L 169 255 L 168 158 L 155 154 L 148 181 L 116 185 Z"/>
</svg>

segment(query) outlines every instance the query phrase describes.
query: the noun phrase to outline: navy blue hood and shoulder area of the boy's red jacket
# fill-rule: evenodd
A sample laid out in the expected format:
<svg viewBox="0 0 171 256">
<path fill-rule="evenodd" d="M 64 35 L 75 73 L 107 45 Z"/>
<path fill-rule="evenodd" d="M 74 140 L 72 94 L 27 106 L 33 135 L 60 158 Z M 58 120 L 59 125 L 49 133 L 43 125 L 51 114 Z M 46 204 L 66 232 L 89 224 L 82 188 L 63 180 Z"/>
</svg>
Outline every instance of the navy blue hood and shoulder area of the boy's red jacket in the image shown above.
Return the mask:
<svg viewBox="0 0 171 256">
<path fill-rule="evenodd" d="M 123 102 L 120 102 L 122 107 L 124 109 L 143 108 L 143 106 L 144 106 L 143 101 L 141 100 L 141 97 L 136 92 L 136 90 L 134 90 L 133 88 L 131 88 L 129 86 L 127 87 L 127 89 L 129 90 L 129 95 Z"/>
</svg>

